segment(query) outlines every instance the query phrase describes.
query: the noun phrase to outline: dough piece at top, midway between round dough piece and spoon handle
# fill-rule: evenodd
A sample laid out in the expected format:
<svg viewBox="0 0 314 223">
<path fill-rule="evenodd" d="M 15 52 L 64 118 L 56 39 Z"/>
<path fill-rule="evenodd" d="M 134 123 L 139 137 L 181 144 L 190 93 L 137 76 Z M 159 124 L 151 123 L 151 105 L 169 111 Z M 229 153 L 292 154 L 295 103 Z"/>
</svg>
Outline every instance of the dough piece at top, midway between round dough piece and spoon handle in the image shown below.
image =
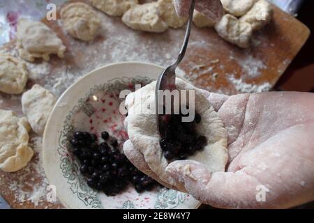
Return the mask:
<svg viewBox="0 0 314 223">
<path fill-rule="evenodd" d="M 131 29 L 162 33 L 168 29 L 158 10 L 158 2 L 144 3 L 130 8 L 122 17 L 122 22 Z"/>
</svg>

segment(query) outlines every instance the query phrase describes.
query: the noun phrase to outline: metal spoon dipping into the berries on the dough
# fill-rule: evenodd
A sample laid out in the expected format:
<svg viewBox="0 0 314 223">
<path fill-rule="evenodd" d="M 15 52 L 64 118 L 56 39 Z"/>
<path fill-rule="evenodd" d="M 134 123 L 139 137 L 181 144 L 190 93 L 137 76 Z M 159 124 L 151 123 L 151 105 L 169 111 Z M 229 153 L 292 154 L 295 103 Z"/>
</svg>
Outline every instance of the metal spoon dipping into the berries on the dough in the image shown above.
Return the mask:
<svg viewBox="0 0 314 223">
<path fill-rule="evenodd" d="M 192 1 L 190 6 L 190 12 L 188 17 L 188 25 L 186 26 L 186 35 L 184 37 L 184 43 L 179 52 L 179 56 L 177 61 L 172 63 L 169 67 L 167 67 L 158 77 L 156 84 L 156 114 L 157 114 L 157 129 L 161 138 L 165 137 L 166 128 L 167 128 L 167 116 L 163 114 L 163 94 L 160 93 L 160 90 L 169 90 L 173 91 L 176 88 L 176 74 L 175 70 L 181 63 L 182 59 L 184 59 L 184 55 L 186 54 L 186 48 L 188 47 L 188 40 L 190 38 L 190 27 L 192 26 L 193 13 L 194 13 L 195 0 Z M 173 107 L 173 100 L 172 105 Z"/>
</svg>

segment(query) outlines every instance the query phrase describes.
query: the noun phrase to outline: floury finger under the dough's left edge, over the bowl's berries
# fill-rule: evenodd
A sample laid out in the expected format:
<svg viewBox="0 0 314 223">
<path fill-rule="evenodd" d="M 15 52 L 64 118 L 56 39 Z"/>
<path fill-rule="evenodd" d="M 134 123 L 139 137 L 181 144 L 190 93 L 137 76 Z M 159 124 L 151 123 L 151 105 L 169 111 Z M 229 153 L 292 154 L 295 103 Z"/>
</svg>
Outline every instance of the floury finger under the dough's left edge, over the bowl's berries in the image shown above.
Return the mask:
<svg viewBox="0 0 314 223">
<path fill-rule="evenodd" d="M 164 185 L 165 187 L 177 190 L 176 187 L 165 183 L 163 180 L 160 180 L 160 178 L 153 171 L 151 171 L 147 162 L 145 162 L 144 160 L 144 155 L 142 155 L 140 151 L 137 151 L 133 147 L 133 144 L 130 141 L 130 139 L 124 143 L 124 155 L 128 157 L 128 160 L 130 160 L 130 162 L 132 162 L 132 164 L 135 167 L 137 167 L 137 169 L 140 169 L 140 171 L 142 171 L 147 176 L 154 178 L 158 183 L 160 183 L 161 185 Z"/>
</svg>

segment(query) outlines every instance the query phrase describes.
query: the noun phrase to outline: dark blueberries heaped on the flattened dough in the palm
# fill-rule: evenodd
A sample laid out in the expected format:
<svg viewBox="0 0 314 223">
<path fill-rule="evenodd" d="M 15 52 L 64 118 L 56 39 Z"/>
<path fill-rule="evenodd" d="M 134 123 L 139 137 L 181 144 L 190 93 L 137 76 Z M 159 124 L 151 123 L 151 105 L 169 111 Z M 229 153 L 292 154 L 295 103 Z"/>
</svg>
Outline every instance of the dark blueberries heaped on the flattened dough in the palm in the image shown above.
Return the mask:
<svg viewBox="0 0 314 223">
<path fill-rule="evenodd" d="M 202 121 L 200 114 L 195 114 L 193 122 L 182 122 L 186 115 L 172 114 L 168 119 L 165 137 L 160 140 L 160 147 L 167 160 L 186 160 L 207 145 L 207 138 L 198 135 L 196 125 Z"/>
</svg>

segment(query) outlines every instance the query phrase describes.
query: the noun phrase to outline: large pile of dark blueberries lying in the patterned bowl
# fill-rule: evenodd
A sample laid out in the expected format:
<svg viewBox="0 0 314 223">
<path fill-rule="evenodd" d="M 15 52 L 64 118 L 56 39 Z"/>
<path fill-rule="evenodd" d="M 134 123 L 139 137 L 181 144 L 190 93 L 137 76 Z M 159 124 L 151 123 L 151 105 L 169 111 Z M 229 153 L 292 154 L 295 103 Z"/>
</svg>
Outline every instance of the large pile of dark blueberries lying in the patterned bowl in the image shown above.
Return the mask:
<svg viewBox="0 0 314 223">
<path fill-rule="evenodd" d="M 98 144 L 96 134 L 74 132 L 70 139 L 72 153 L 80 162 L 80 172 L 94 190 L 114 196 L 126 190 L 132 183 L 137 192 L 151 190 L 158 183 L 143 174 L 119 151 L 117 139 L 102 132 L 103 142 Z"/>
</svg>

